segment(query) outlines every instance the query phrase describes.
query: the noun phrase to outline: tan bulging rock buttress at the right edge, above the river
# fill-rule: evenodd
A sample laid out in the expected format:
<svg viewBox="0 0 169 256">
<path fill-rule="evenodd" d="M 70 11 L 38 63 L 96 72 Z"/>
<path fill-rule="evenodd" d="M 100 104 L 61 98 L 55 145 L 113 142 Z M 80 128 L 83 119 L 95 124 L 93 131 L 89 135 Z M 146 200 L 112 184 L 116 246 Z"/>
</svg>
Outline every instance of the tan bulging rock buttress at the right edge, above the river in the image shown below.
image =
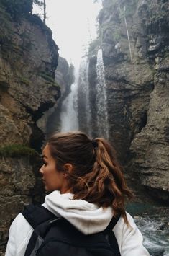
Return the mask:
<svg viewBox="0 0 169 256">
<path fill-rule="evenodd" d="M 155 78 L 155 89 L 150 97 L 147 125 L 138 133 L 130 146 L 132 172 L 140 184 L 147 187 L 156 199 L 168 202 L 169 166 L 169 93 L 166 74 Z M 165 77 L 165 83 L 160 80 Z"/>
</svg>

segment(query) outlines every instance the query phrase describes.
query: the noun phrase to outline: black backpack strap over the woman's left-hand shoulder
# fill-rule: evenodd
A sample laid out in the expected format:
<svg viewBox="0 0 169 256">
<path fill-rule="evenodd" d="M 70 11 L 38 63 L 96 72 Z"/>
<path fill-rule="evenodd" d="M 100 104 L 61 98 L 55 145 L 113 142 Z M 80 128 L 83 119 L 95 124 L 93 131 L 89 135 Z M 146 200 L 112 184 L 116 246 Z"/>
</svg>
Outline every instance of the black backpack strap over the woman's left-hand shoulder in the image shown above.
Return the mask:
<svg viewBox="0 0 169 256">
<path fill-rule="evenodd" d="M 31 204 L 25 206 L 24 211 L 22 211 L 22 215 L 29 222 L 33 229 L 45 221 L 58 219 L 55 214 L 51 213 L 51 211 L 47 210 L 47 208 L 41 205 L 34 206 Z"/>
</svg>

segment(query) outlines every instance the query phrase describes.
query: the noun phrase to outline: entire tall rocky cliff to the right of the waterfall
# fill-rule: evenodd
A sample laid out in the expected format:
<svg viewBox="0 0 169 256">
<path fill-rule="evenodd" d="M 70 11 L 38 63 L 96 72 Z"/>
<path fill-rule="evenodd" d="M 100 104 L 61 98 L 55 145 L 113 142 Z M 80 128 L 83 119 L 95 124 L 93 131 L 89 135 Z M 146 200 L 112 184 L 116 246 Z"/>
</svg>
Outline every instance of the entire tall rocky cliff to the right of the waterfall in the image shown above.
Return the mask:
<svg viewBox="0 0 169 256">
<path fill-rule="evenodd" d="M 148 194 L 165 202 L 169 198 L 168 12 L 168 1 L 104 0 L 99 14 L 111 143 L 132 187 L 146 187 Z"/>
</svg>

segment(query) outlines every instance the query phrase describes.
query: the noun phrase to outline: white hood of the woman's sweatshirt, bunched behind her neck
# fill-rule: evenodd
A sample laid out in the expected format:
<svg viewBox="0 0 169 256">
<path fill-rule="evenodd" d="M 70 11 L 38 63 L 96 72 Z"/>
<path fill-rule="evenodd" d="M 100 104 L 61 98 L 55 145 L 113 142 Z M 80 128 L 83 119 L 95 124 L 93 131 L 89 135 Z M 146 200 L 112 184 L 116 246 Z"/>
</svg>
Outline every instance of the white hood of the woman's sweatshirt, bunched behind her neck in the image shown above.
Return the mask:
<svg viewBox="0 0 169 256">
<path fill-rule="evenodd" d="M 86 200 L 73 200 L 73 194 L 60 194 L 58 190 L 45 197 L 43 206 L 56 216 L 67 219 L 83 234 L 103 231 L 113 216 L 111 207 L 103 208 Z"/>
</svg>

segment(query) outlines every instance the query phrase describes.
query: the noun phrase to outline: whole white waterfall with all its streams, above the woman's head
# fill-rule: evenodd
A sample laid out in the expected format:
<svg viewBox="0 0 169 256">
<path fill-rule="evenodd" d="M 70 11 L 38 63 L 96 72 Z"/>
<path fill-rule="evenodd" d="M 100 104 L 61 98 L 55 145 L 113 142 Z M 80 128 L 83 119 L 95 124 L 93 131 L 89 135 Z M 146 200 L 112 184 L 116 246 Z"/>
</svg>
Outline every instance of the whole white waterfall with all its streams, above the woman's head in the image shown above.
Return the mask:
<svg viewBox="0 0 169 256">
<path fill-rule="evenodd" d="M 78 131 L 80 125 L 80 130 L 89 136 L 109 139 L 104 73 L 102 50 L 99 49 L 96 63 L 96 88 L 89 88 L 88 58 L 82 58 L 80 68 L 76 71 L 76 81 L 71 86 L 70 94 L 63 101 L 60 113 L 61 131 Z"/>
</svg>

